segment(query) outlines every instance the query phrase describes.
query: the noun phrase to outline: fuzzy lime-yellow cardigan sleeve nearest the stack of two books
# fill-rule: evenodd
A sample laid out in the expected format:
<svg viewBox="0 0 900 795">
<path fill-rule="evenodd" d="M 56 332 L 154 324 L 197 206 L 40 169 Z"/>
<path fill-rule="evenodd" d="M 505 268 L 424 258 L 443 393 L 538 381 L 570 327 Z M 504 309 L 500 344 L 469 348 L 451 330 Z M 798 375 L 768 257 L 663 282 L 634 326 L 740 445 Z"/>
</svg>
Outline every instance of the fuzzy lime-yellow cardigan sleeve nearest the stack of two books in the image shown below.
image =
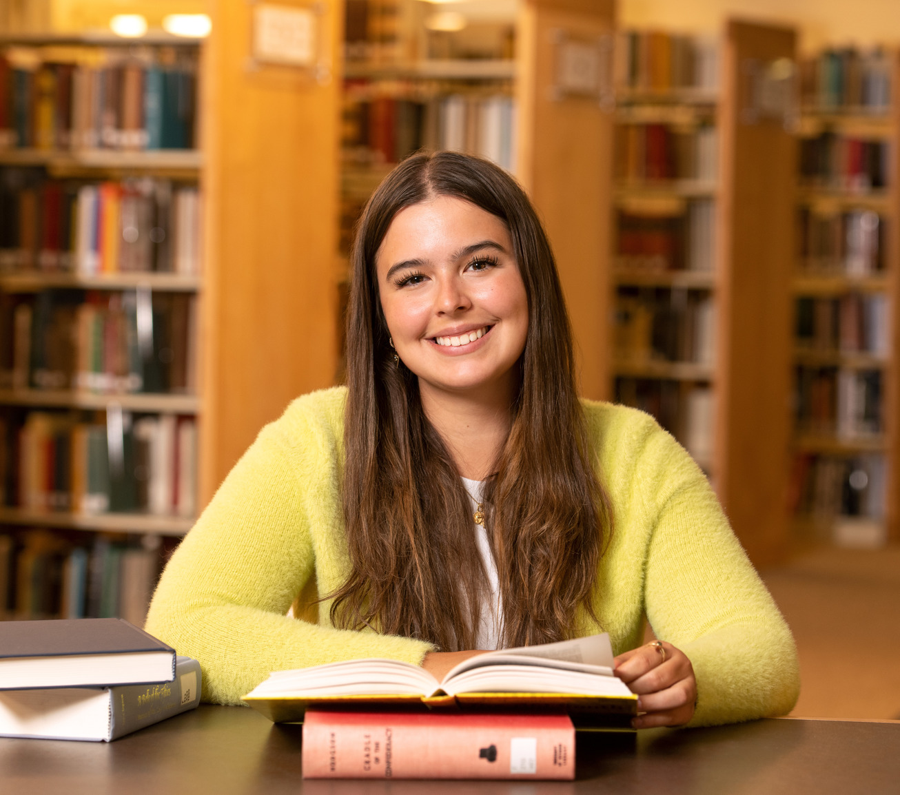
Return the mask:
<svg viewBox="0 0 900 795">
<path fill-rule="evenodd" d="M 334 500 L 319 512 L 311 499 L 315 484 L 308 478 L 321 478 L 322 469 L 335 465 L 317 447 L 309 433 L 289 442 L 284 418 L 263 429 L 160 579 L 146 628 L 178 654 L 200 661 L 204 701 L 238 704 L 276 670 L 358 657 L 419 665 L 432 648 L 286 615 L 305 586 L 315 591 L 318 580 L 327 589 L 323 576 L 330 572 L 334 579 L 343 570 L 317 538 L 328 535 L 317 523 L 339 512 Z M 320 605 L 323 613 L 327 623 Z"/>
</svg>

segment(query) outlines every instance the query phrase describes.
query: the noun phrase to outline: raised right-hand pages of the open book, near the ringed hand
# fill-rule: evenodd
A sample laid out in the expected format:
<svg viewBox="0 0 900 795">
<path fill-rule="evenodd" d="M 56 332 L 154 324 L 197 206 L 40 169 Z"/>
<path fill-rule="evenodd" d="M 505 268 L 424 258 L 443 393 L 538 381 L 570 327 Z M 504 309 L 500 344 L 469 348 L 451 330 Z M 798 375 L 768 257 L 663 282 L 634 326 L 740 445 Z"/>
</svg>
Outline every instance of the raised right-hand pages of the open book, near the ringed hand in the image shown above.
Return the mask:
<svg viewBox="0 0 900 795">
<path fill-rule="evenodd" d="M 443 682 L 449 682 L 455 675 L 473 668 L 500 664 L 531 665 L 612 676 L 613 650 L 607 632 L 589 635 L 587 638 L 561 640 L 557 643 L 506 648 L 464 660 L 447 672 Z"/>
</svg>

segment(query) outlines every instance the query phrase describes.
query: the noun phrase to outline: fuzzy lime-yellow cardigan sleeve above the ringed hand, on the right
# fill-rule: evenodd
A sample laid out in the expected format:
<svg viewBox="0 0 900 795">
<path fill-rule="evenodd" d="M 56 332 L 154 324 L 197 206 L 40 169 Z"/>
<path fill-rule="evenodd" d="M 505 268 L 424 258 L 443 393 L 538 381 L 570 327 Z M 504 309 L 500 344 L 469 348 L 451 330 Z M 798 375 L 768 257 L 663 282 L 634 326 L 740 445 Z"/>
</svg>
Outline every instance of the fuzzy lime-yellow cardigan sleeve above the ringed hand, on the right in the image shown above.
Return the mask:
<svg viewBox="0 0 900 795">
<path fill-rule="evenodd" d="M 657 637 L 680 648 L 697 676 L 691 725 L 788 713 L 797 702 L 794 639 L 734 536 L 707 478 L 662 430 L 648 441 L 657 493 L 644 607 Z"/>
</svg>

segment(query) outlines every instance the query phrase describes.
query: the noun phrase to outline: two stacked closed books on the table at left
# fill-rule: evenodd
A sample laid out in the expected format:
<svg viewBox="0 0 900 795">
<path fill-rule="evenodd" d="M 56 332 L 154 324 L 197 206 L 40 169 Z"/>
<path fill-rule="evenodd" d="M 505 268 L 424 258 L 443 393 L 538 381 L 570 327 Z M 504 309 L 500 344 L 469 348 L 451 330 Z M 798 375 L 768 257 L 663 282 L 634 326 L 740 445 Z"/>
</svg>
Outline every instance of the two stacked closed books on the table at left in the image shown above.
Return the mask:
<svg viewBox="0 0 900 795">
<path fill-rule="evenodd" d="M 0 737 L 111 740 L 200 703 L 200 664 L 121 619 L 0 622 Z"/>
</svg>

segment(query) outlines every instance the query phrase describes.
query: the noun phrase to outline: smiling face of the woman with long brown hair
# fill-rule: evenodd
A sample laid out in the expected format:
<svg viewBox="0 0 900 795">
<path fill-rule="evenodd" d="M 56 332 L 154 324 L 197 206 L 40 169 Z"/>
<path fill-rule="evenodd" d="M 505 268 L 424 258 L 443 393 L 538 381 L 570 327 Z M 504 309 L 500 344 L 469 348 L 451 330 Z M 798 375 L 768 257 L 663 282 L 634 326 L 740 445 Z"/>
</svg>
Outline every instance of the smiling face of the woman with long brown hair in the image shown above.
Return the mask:
<svg viewBox="0 0 900 795">
<path fill-rule="evenodd" d="M 449 196 L 394 217 L 375 258 L 402 362 L 430 392 L 511 396 L 528 305 L 506 224 Z"/>
</svg>

